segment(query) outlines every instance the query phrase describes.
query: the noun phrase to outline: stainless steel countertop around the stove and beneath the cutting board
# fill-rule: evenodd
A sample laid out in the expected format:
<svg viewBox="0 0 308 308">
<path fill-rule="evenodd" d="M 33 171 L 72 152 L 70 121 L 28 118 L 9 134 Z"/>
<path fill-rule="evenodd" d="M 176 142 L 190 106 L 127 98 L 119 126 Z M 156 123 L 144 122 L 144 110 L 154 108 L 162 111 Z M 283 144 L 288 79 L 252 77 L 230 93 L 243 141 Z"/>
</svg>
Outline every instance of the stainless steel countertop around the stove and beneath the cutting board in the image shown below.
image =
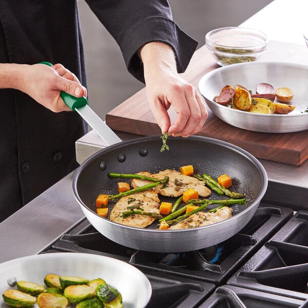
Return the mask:
<svg viewBox="0 0 308 308">
<path fill-rule="evenodd" d="M 301 32 L 304 31 L 307 9 L 306 0 L 293 0 L 292 3 L 288 0 L 275 0 L 241 26 L 259 28 L 272 40 L 304 44 Z M 285 14 L 287 18 L 283 17 Z M 264 20 L 266 23 L 260 23 Z M 125 136 L 120 134 L 120 138 L 124 139 L 123 137 Z M 129 139 L 132 136 L 126 137 Z M 304 142 L 308 142 L 308 139 Z M 94 132 L 89 132 L 76 142 L 78 160 L 83 161 L 103 147 L 105 145 L 100 138 Z M 267 191 L 270 194 L 266 194 L 265 199 L 272 201 L 271 198 L 278 198 L 289 203 L 295 210 L 296 205 L 306 206 L 308 209 L 308 161 L 301 166 L 265 160 L 260 162 L 269 179 Z M 63 233 L 84 219 L 73 196 L 72 177 L 73 172 L 0 223 L 0 262 L 44 251 Z"/>
</svg>

